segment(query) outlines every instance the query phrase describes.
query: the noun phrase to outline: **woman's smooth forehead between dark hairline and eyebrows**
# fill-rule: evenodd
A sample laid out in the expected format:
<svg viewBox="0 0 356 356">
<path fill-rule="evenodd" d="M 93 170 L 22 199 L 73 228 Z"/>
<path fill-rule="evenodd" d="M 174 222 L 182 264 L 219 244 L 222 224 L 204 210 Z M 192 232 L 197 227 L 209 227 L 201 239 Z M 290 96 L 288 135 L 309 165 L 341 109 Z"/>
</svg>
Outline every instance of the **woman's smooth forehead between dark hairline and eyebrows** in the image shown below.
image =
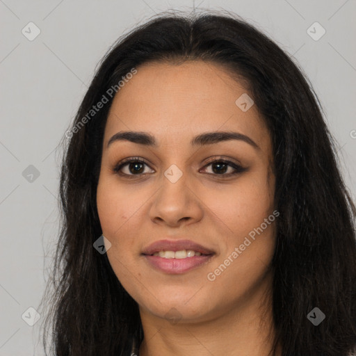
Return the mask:
<svg viewBox="0 0 356 356">
<path fill-rule="evenodd" d="M 118 131 L 147 131 L 158 143 L 202 131 L 234 130 L 266 141 L 266 126 L 255 105 L 242 111 L 236 100 L 250 93 L 214 63 L 148 63 L 115 95 L 104 144 Z M 174 136 L 174 137 L 173 137 Z M 187 141 L 188 142 L 188 141 Z M 266 142 L 266 144 L 268 144 Z"/>
</svg>

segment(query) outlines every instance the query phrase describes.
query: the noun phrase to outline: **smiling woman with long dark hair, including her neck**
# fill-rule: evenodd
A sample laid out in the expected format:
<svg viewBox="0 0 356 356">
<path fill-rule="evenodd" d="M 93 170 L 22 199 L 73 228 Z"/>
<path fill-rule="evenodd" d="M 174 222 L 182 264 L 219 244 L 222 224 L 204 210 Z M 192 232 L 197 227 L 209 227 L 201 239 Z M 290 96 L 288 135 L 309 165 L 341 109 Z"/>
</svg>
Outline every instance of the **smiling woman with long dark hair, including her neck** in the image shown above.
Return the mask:
<svg viewBox="0 0 356 356">
<path fill-rule="evenodd" d="M 65 136 L 55 355 L 355 350 L 355 206 L 312 87 L 264 34 L 152 19 Z"/>
</svg>

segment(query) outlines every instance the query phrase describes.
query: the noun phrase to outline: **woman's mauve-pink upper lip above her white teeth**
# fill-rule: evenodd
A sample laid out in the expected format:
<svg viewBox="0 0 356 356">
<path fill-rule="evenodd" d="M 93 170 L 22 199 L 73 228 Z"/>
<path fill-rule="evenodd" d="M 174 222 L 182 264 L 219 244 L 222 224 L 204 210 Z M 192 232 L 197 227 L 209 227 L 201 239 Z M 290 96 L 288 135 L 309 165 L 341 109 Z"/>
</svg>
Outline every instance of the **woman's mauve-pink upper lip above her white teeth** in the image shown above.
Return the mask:
<svg viewBox="0 0 356 356">
<path fill-rule="evenodd" d="M 143 249 L 143 254 L 145 255 L 153 255 L 155 252 L 160 251 L 181 251 L 181 250 L 193 250 L 195 252 L 200 252 L 201 254 L 209 255 L 214 254 L 212 250 L 209 248 L 205 248 L 204 246 L 195 243 L 191 240 L 160 240 L 151 243 L 146 248 Z"/>
</svg>

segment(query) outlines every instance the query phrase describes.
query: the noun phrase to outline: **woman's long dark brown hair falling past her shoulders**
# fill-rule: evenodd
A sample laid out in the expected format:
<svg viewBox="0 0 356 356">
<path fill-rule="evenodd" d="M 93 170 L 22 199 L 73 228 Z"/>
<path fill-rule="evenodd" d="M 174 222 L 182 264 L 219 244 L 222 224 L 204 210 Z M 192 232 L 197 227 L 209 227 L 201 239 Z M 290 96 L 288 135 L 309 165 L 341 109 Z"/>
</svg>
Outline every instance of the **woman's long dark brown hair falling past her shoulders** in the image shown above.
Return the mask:
<svg viewBox="0 0 356 356">
<path fill-rule="evenodd" d="M 138 305 L 106 254 L 93 248 L 102 234 L 96 191 L 113 100 L 107 91 L 143 63 L 184 60 L 212 61 L 245 81 L 273 141 L 280 217 L 271 354 L 280 344 L 283 356 L 349 355 L 356 345 L 355 206 L 321 104 L 298 64 L 275 42 L 237 15 L 211 12 L 160 14 L 120 38 L 99 64 L 63 140 L 61 229 L 45 293 L 44 348 L 51 330 L 50 355 L 138 353 Z M 83 124 L 103 95 L 108 102 Z M 318 326 L 307 318 L 314 307 L 325 314 Z"/>
</svg>

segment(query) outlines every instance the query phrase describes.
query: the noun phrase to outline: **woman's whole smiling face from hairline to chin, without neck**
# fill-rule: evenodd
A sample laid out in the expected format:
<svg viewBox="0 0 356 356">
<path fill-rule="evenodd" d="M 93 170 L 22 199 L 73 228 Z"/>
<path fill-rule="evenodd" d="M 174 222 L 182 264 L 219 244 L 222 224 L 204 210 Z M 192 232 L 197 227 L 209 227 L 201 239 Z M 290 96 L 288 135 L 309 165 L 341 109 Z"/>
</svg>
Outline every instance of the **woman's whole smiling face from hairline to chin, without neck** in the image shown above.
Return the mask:
<svg viewBox="0 0 356 356">
<path fill-rule="evenodd" d="M 118 280 L 141 316 L 204 321 L 256 304 L 270 286 L 278 215 L 264 120 L 213 63 L 137 70 L 111 106 L 97 187 Z M 111 140 L 126 131 L 155 145 L 133 135 Z M 191 142 L 222 131 L 237 135 Z M 115 172 L 124 159 L 133 162 Z"/>
</svg>

